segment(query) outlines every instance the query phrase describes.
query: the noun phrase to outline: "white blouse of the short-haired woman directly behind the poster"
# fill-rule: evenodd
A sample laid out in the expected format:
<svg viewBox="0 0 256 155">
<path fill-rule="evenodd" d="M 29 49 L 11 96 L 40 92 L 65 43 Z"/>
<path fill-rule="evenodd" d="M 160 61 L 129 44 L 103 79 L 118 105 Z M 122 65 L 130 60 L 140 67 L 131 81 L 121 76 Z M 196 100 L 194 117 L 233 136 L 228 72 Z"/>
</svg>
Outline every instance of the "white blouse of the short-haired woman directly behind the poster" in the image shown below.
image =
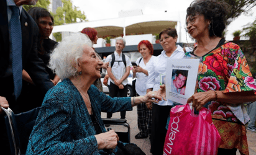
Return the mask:
<svg viewBox="0 0 256 155">
<path fill-rule="evenodd" d="M 163 50 L 161 55 L 158 55 L 153 61 L 153 65 L 149 70 L 149 78 L 147 79 L 147 89 L 153 88 L 153 91 L 160 89 L 160 74 L 166 74 L 167 60 L 168 59 L 181 59 L 185 55 L 183 48 L 180 45 L 176 46 L 176 50 L 173 51 L 170 57 L 168 57 Z M 155 104 L 155 103 L 154 103 Z M 173 105 L 171 100 L 162 100 L 158 102 L 158 105 Z"/>
</svg>

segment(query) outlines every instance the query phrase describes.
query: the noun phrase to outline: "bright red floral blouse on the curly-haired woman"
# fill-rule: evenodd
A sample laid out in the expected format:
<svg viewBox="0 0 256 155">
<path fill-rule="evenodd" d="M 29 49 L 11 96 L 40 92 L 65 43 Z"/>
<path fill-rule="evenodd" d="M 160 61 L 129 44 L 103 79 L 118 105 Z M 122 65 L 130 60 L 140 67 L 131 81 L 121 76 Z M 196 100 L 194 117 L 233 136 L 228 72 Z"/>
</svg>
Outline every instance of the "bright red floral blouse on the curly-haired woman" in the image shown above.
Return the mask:
<svg viewBox="0 0 256 155">
<path fill-rule="evenodd" d="M 193 52 L 185 56 L 195 57 Z M 196 92 L 205 91 L 241 92 L 256 91 L 256 84 L 244 53 L 235 43 L 224 43 L 200 57 Z M 256 94 L 256 93 L 255 93 Z M 244 104 L 225 104 L 210 101 L 204 107 L 211 110 L 213 118 L 229 122 L 249 122 Z"/>
</svg>

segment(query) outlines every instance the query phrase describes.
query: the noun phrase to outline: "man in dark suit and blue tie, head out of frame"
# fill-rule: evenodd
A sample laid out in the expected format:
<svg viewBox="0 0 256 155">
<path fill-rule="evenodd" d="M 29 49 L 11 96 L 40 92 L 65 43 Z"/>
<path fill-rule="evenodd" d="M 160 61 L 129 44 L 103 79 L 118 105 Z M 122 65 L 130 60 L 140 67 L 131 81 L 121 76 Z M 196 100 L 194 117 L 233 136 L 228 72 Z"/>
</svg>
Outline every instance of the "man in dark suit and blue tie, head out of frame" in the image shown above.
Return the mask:
<svg viewBox="0 0 256 155">
<path fill-rule="evenodd" d="M 22 87 L 22 69 L 29 73 L 42 93 L 45 94 L 54 86 L 44 69 L 43 61 L 37 56 L 37 24 L 22 8 L 23 4 L 35 5 L 36 2 L 37 0 L 0 0 L 0 97 L 1 102 L 5 105 L 8 103 L 14 113 L 30 110 L 29 105 L 18 102 Z M 17 11 L 19 16 L 16 15 Z M 2 135 L 5 134 L 5 131 L 2 131 L 2 115 L 0 123 L 1 149 L 2 146 L 7 147 L 9 144 L 6 139 L 2 139 Z"/>
</svg>

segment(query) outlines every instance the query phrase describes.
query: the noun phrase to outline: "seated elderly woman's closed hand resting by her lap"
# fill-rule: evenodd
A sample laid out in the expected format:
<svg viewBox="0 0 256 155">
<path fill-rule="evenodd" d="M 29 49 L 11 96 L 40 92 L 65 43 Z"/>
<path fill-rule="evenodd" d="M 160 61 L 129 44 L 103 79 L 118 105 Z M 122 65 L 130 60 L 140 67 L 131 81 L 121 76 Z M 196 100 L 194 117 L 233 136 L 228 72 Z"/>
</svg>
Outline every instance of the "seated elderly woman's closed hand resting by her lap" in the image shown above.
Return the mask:
<svg viewBox="0 0 256 155">
<path fill-rule="evenodd" d="M 98 143 L 98 149 L 114 149 L 117 146 L 117 141 L 119 141 L 119 137 L 114 130 L 95 135 L 95 138 Z"/>
</svg>

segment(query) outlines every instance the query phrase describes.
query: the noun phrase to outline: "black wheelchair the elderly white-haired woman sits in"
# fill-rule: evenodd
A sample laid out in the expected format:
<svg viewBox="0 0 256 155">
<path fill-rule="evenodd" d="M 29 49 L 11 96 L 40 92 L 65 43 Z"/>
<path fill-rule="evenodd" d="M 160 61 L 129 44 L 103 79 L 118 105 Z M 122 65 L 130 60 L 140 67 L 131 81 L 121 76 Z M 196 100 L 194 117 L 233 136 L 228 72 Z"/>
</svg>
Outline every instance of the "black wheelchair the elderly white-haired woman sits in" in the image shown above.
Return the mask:
<svg viewBox="0 0 256 155">
<path fill-rule="evenodd" d="M 0 107 L 6 113 L 4 118 L 7 128 L 7 136 L 10 143 L 11 154 L 25 154 L 29 136 L 35 125 L 35 120 L 39 113 L 40 107 L 34 108 L 28 112 L 14 114 L 11 108 Z M 102 118 L 104 125 L 124 126 L 127 131 L 117 131 L 119 140 L 125 143 L 130 143 L 130 125 L 125 119 Z"/>
</svg>

